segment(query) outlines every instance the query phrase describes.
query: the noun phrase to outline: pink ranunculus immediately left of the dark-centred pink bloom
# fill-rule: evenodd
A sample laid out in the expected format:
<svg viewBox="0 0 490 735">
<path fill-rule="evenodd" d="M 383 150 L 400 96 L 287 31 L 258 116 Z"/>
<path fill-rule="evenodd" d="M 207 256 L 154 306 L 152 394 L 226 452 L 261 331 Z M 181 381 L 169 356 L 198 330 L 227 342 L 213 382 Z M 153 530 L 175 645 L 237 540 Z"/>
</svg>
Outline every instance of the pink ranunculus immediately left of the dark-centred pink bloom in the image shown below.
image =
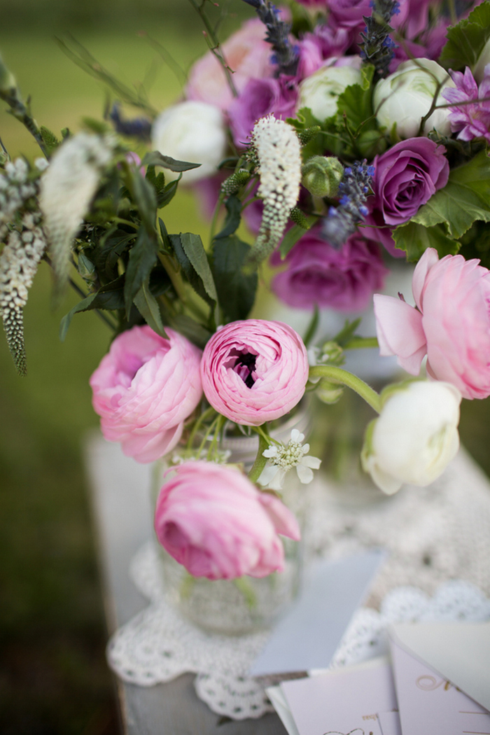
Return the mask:
<svg viewBox="0 0 490 735">
<path fill-rule="evenodd" d="M 137 462 L 173 449 L 201 401 L 201 350 L 173 329 L 167 335 L 147 325 L 123 331 L 90 378 L 104 437 Z"/>
</svg>

